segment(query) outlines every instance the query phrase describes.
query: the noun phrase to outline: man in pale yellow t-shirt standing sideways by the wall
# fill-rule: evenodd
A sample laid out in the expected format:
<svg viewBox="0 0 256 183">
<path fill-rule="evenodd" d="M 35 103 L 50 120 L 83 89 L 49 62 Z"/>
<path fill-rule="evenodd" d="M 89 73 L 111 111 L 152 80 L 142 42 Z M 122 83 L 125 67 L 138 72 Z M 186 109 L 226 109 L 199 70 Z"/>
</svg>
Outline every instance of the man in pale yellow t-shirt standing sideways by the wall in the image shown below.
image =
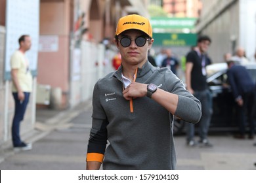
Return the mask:
<svg viewBox="0 0 256 183">
<path fill-rule="evenodd" d="M 20 139 L 20 122 L 24 118 L 30 92 L 32 92 L 32 75 L 25 52 L 30 50 L 32 41 L 29 35 L 22 35 L 18 39 L 20 48 L 11 56 L 12 95 L 15 102 L 15 112 L 12 120 L 12 144 L 14 150 L 30 150 L 32 144 Z"/>
</svg>

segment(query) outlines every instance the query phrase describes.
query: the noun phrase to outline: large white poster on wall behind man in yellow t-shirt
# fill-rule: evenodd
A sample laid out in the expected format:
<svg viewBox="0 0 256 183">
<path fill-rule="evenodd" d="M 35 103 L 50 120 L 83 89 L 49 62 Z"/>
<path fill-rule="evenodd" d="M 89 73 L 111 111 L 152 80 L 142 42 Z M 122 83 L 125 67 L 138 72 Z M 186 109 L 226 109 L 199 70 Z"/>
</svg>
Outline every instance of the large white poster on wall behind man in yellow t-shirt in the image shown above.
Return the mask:
<svg viewBox="0 0 256 183">
<path fill-rule="evenodd" d="M 26 56 L 30 61 L 32 75 L 37 75 L 37 52 L 39 43 L 39 0 L 8 0 L 6 8 L 5 80 L 11 79 L 10 58 L 19 48 L 21 35 L 30 35 L 32 47 Z"/>
</svg>

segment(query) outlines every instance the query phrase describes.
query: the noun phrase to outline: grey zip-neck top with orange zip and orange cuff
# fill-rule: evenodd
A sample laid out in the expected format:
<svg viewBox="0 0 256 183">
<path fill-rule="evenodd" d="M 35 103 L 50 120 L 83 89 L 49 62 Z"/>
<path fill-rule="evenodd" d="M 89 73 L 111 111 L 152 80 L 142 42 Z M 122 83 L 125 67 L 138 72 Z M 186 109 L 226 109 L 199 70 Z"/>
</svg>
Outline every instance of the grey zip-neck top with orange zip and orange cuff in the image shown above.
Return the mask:
<svg viewBox="0 0 256 183">
<path fill-rule="evenodd" d="M 87 161 L 102 162 L 103 169 L 175 169 L 173 114 L 149 97 L 127 101 L 121 71 L 119 67 L 95 84 Z M 147 61 L 137 70 L 135 82 L 179 95 L 174 115 L 194 124 L 200 120 L 200 101 L 169 69 Z"/>
</svg>

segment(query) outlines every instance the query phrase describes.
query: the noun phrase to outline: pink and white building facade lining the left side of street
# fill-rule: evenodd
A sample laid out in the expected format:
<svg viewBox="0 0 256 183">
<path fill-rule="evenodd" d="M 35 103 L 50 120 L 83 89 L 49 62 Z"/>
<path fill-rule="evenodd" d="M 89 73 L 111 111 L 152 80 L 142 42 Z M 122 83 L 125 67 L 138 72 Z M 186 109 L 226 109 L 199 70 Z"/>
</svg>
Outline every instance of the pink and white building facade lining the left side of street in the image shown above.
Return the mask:
<svg viewBox="0 0 256 183">
<path fill-rule="evenodd" d="M 11 0 L 12 1 L 12 0 Z M 39 0 L 38 0 L 39 1 Z M 30 0 L 22 1 L 30 5 Z M 35 125 L 37 85 L 51 87 L 50 103 L 59 108 L 72 108 L 91 98 L 98 78 L 113 71 L 110 60 L 116 54 L 113 46 L 117 20 L 126 14 L 149 18 L 146 1 L 137 0 L 41 0 L 39 1 L 37 71 L 33 78 L 33 94 L 22 122 L 21 134 Z M 0 0 L 0 147 L 11 139 L 14 101 L 11 80 L 6 80 L 5 63 L 8 33 L 7 0 Z M 12 12 L 9 9 L 8 13 Z M 23 12 L 26 15 L 26 12 Z M 18 39 L 18 37 L 17 37 Z M 57 96 L 56 96 L 57 95 Z"/>
</svg>

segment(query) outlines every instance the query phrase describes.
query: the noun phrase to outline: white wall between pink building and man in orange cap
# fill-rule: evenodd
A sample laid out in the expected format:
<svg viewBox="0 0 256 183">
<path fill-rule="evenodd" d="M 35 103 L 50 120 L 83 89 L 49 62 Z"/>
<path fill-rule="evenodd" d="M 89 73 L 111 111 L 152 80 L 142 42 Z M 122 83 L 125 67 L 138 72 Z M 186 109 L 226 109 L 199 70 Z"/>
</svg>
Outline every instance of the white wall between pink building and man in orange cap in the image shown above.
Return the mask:
<svg viewBox="0 0 256 183">
<path fill-rule="evenodd" d="M 70 82 L 70 107 L 90 99 L 93 96 L 96 81 L 113 71 L 111 59 L 114 56 L 114 51 L 106 52 L 103 44 L 88 41 L 81 41 L 80 50 L 80 73 L 77 79 L 71 79 Z"/>
</svg>

